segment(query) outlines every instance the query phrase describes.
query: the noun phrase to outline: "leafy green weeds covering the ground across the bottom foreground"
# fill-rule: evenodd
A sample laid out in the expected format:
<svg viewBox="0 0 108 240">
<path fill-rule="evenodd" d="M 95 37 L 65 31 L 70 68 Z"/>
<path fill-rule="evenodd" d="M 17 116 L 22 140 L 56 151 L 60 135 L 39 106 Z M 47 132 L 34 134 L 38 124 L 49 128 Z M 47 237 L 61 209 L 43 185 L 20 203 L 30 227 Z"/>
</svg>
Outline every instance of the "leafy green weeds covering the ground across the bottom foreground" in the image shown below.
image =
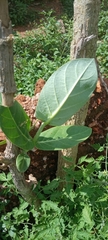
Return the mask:
<svg viewBox="0 0 108 240">
<path fill-rule="evenodd" d="M 77 171 L 65 169 L 65 180 L 68 183 L 74 178 L 74 189 L 68 184 L 60 192 L 59 179 L 46 186 L 38 183 L 34 193 L 43 199 L 39 212 L 20 196 L 19 205 L 12 211 L 4 214 L 1 209 L 1 239 L 108 239 L 108 172 L 101 170 L 103 161 L 103 156 L 84 156 L 79 159 Z M 4 173 L 0 180 L 4 180 Z M 8 191 L 12 189 L 6 181 L 5 186 Z"/>
</svg>

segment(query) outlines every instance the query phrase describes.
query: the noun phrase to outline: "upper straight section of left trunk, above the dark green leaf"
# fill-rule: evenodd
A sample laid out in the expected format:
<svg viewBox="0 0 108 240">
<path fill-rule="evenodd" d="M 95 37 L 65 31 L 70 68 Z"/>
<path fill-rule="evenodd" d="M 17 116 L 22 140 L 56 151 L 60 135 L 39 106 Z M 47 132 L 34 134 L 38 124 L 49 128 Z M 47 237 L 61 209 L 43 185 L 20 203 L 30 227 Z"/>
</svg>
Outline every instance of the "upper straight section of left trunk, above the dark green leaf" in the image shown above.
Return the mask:
<svg viewBox="0 0 108 240">
<path fill-rule="evenodd" d="M 0 92 L 2 104 L 10 106 L 13 103 L 16 85 L 13 70 L 13 35 L 7 0 L 0 0 Z"/>
</svg>

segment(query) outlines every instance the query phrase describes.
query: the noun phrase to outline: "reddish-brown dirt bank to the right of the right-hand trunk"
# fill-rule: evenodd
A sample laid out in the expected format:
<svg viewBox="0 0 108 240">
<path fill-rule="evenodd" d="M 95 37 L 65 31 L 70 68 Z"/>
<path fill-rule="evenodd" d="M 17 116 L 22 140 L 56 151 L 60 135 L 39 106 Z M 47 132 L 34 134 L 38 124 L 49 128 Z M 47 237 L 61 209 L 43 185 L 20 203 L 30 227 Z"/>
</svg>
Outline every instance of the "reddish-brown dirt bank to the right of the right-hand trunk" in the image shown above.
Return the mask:
<svg viewBox="0 0 108 240">
<path fill-rule="evenodd" d="M 92 128 L 92 134 L 85 142 L 79 145 L 78 158 L 88 154 L 88 156 L 98 157 L 92 147 L 93 144 L 106 143 L 108 133 L 108 79 L 104 79 L 102 84 L 99 80 L 96 89 L 90 99 L 85 125 Z M 103 153 L 105 155 L 105 151 Z"/>
</svg>

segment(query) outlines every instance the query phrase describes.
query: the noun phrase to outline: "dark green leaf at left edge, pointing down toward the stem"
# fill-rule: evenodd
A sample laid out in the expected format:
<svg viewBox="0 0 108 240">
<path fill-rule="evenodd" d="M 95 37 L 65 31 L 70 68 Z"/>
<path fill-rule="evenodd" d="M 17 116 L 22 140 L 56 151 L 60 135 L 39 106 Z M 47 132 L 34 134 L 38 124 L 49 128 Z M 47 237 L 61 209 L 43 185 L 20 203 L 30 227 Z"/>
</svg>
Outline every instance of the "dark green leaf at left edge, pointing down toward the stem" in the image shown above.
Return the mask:
<svg viewBox="0 0 108 240">
<path fill-rule="evenodd" d="M 11 107 L 0 106 L 0 127 L 6 137 L 19 148 L 28 151 L 34 147 L 29 135 L 30 119 L 17 101 Z"/>
</svg>

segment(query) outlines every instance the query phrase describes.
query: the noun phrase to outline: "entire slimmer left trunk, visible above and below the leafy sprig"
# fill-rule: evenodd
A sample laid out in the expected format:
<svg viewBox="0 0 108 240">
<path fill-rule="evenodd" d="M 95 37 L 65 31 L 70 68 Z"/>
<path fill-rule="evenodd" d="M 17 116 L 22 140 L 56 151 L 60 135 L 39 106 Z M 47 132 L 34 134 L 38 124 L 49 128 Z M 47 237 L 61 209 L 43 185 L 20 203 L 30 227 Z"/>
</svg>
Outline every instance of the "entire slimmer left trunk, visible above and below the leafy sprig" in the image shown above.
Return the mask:
<svg viewBox="0 0 108 240">
<path fill-rule="evenodd" d="M 0 0 L 0 92 L 2 93 L 2 104 L 6 107 L 11 106 L 14 101 L 16 86 L 13 73 L 13 36 L 7 0 Z M 24 174 L 16 168 L 18 154 L 19 149 L 7 141 L 6 150 L 4 154 L 0 155 L 0 161 L 9 166 L 15 186 L 22 197 L 38 209 L 40 201 L 33 194 L 33 184 L 27 183 Z"/>
</svg>

